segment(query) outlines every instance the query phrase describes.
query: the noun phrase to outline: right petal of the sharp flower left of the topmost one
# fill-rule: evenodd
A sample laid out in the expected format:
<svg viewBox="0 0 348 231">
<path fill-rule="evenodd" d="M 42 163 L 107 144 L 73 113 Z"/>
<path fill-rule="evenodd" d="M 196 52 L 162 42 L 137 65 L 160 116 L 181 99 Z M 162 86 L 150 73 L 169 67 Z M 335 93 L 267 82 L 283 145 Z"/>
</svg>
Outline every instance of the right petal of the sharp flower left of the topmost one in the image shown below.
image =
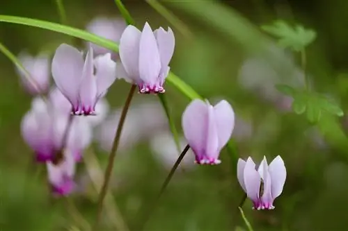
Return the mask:
<svg viewBox="0 0 348 231">
<path fill-rule="evenodd" d="M 111 60 L 111 53 L 97 56 L 94 60 L 97 78 L 97 97 L 106 94 L 107 89 L 116 80 L 116 62 Z"/>
</svg>

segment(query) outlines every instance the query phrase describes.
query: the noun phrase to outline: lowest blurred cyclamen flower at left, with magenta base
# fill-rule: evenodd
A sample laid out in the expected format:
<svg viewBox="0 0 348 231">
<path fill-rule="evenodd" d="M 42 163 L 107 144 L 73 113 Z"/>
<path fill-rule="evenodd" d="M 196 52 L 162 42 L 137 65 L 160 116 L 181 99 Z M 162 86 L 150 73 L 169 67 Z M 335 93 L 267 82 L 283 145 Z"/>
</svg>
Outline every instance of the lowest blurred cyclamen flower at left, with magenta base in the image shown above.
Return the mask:
<svg viewBox="0 0 348 231">
<path fill-rule="evenodd" d="M 47 162 L 47 174 L 52 186 L 52 193 L 56 196 L 68 196 L 74 190 L 75 165 L 74 156 L 69 152 L 64 153 L 61 163 Z"/>
</svg>

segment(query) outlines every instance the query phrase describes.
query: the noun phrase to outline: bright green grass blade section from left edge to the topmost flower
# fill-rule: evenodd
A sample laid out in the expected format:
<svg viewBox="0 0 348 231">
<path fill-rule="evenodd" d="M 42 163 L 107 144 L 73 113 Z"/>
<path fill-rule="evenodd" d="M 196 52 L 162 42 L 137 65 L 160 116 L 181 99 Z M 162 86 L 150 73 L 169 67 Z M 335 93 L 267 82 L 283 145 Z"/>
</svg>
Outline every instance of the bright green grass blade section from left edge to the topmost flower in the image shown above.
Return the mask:
<svg viewBox="0 0 348 231">
<path fill-rule="evenodd" d="M 49 31 L 56 31 L 58 33 L 63 33 L 65 35 L 70 35 L 73 37 L 78 37 L 82 40 L 93 42 L 97 45 L 104 46 L 107 49 L 118 52 L 118 44 L 111 40 L 106 40 L 103 37 L 93 35 L 86 31 L 72 28 L 70 26 L 64 26 L 62 24 L 56 24 L 54 22 L 46 22 L 38 19 L 29 19 L 26 17 L 17 17 L 9 15 L 0 15 L 0 22 L 8 22 L 12 24 L 22 24 L 26 26 L 33 26 L 38 28 L 43 28 Z"/>
</svg>

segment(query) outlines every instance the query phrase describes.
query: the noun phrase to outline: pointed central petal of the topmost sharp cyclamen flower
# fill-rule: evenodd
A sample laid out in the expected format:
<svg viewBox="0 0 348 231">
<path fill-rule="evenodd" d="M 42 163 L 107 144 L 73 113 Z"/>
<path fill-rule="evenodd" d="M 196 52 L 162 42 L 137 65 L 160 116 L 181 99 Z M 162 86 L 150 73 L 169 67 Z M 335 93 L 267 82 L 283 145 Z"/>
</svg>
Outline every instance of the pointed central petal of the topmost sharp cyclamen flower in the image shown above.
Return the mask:
<svg viewBox="0 0 348 231">
<path fill-rule="evenodd" d="M 161 60 L 157 41 L 150 25 L 146 22 L 141 33 L 139 46 L 140 78 L 145 84 L 156 85 L 159 71 L 161 71 Z"/>
</svg>

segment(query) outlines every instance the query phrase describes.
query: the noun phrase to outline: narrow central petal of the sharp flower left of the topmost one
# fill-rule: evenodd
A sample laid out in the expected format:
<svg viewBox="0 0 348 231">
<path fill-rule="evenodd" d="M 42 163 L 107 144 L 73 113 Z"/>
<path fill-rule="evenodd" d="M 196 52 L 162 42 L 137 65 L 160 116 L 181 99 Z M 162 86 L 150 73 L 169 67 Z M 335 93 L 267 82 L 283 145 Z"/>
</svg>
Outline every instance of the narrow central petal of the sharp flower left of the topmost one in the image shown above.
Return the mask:
<svg viewBox="0 0 348 231">
<path fill-rule="evenodd" d="M 95 114 L 95 102 L 97 100 L 97 80 L 93 75 L 93 49 L 90 48 L 86 55 L 82 80 L 79 89 L 81 114 Z"/>
</svg>

